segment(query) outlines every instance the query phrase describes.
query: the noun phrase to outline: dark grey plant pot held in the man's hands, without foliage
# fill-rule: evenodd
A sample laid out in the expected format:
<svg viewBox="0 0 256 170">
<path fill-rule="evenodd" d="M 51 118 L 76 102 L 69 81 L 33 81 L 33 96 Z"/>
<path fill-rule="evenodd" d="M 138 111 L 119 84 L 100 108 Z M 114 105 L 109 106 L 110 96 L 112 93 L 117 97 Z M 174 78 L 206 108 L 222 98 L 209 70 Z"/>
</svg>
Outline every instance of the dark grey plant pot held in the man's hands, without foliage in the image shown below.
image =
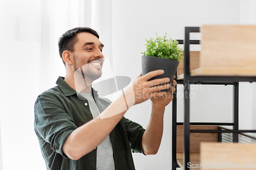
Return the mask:
<svg viewBox="0 0 256 170">
<path fill-rule="evenodd" d="M 170 82 L 169 82 L 170 84 L 174 79 L 178 65 L 179 65 L 179 61 L 176 61 L 176 60 L 160 58 L 160 57 L 152 57 L 152 56 L 142 56 L 142 76 L 147 74 L 150 71 L 163 69 L 164 70 L 163 75 L 153 77 L 150 80 L 168 77 L 170 79 Z M 161 91 L 168 92 L 169 89 L 165 89 Z"/>
</svg>

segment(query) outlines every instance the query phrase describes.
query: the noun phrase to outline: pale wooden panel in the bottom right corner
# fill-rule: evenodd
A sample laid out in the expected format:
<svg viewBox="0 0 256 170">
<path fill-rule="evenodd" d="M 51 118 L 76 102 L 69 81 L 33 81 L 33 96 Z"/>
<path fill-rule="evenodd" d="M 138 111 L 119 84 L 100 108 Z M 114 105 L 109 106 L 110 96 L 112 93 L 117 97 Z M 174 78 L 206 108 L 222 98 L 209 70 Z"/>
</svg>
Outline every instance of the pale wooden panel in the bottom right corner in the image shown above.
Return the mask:
<svg viewBox="0 0 256 170">
<path fill-rule="evenodd" d="M 203 142 L 200 152 L 201 164 L 218 165 L 220 170 L 256 169 L 256 143 Z M 213 168 L 203 166 L 201 169 Z"/>
</svg>

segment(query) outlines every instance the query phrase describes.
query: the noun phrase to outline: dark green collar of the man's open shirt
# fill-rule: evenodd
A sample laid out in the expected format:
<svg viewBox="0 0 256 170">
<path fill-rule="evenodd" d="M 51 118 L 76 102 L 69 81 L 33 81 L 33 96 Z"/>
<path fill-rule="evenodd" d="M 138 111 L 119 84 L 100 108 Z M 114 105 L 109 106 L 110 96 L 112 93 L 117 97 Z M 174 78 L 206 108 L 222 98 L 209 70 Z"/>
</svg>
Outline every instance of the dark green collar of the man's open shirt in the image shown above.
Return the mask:
<svg viewBox="0 0 256 170">
<path fill-rule="evenodd" d="M 58 87 L 60 88 L 60 90 L 66 95 L 66 96 L 70 96 L 73 94 L 76 94 L 76 90 L 73 89 L 72 87 L 70 87 L 68 85 L 67 82 L 65 82 L 64 77 L 60 77 L 57 79 L 56 84 L 58 85 Z M 94 98 L 98 99 L 98 91 L 96 91 L 94 88 L 92 88 L 93 90 L 93 94 L 94 94 Z"/>
</svg>

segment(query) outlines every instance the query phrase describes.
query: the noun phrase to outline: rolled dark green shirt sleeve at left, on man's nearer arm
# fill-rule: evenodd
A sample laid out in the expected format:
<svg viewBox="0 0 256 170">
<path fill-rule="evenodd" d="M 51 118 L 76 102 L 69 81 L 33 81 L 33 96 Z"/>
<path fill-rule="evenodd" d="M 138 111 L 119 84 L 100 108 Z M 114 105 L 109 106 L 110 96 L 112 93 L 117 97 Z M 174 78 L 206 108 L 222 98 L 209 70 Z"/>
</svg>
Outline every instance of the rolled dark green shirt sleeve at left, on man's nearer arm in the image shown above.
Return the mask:
<svg viewBox="0 0 256 170">
<path fill-rule="evenodd" d="M 37 136 L 50 143 L 51 149 L 68 158 L 62 150 L 68 136 L 77 128 L 66 112 L 61 99 L 53 94 L 41 94 L 35 102 L 34 128 Z"/>
</svg>

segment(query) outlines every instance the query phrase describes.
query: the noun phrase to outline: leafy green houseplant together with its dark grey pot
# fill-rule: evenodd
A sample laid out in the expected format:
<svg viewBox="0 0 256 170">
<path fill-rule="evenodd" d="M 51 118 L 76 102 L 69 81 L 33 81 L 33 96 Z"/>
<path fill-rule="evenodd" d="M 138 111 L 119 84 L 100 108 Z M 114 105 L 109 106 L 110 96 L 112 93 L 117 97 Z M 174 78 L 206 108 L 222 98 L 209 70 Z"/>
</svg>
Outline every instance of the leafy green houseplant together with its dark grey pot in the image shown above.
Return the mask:
<svg viewBox="0 0 256 170">
<path fill-rule="evenodd" d="M 157 69 L 163 69 L 164 74 L 152 78 L 159 79 L 168 77 L 173 80 L 175 72 L 179 65 L 179 60 L 183 59 L 182 49 L 178 47 L 178 41 L 167 39 L 164 36 L 156 35 L 156 38 L 150 38 L 146 41 L 146 51 L 142 52 L 142 75 Z M 171 83 L 170 81 L 169 83 Z M 168 92 L 168 89 L 164 90 Z"/>
</svg>

